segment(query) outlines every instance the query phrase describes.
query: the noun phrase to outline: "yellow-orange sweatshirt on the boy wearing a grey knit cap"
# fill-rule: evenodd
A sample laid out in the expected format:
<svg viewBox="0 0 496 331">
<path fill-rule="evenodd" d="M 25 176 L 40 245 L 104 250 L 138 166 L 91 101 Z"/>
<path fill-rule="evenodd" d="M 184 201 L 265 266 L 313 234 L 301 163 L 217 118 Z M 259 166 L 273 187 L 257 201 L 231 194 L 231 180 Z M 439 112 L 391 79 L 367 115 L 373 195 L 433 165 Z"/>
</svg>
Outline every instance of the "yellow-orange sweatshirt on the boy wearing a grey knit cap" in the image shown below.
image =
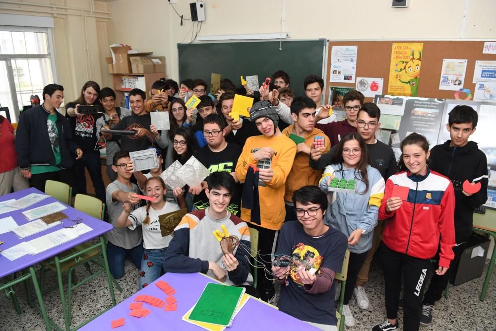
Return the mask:
<svg viewBox="0 0 496 331">
<path fill-rule="evenodd" d="M 255 148 L 270 147 L 274 150 L 271 169 L 274 176 L 266 187 L 258 187 L 260 200 L 260 226 L 270 230 L 279 230 L 286 217 L 284 206 L 284 185 L 288 177 L 296 154 L 296 145 L 286 135 L 266 137 L 255 135 L 247 139 L 243 152 L 236 165 L 236 176 L 244 183 L 248 166 L 256 166 L 257 160 L 253 157 Z M 241 206 L 241 218 L 249 222 L 251 210 Z"/>
</svg>

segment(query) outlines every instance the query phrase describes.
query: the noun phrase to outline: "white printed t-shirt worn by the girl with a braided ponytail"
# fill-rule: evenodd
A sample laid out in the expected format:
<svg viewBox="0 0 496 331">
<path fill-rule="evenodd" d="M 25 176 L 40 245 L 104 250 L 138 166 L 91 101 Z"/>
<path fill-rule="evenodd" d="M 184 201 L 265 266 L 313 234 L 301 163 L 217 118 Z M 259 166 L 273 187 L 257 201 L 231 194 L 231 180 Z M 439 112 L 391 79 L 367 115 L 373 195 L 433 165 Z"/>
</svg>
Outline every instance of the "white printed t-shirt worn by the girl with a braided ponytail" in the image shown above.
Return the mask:
<svg viewBox="0 0 496 331">
<path fill-rule="evenodd" d="M 143 228 L 143 247 L 145 249 L 159 249 L 169 247 L 169 243 L 172 240 L 172 236 L 168 235 L 162 237 L 162 232 L 160 231 L 160 221 L 158 217 L 163 214 L 170 213 L 172 211 L 176 211 L 181 209 L 179 205 L 172 202 L 166 202 L 164 207 L 160 210 L 153 209 L 150 206 L 148 210 L 148 216 L 150 216 L 150 222 L 148 224 L 143 224 L 143 220 L 146 217 L 146 206 L 139 207 L 129 214 L 129 220 L 131 221 L 131 225 L 127 228 L 134 230 L 139 225 Z"/>
</svg>

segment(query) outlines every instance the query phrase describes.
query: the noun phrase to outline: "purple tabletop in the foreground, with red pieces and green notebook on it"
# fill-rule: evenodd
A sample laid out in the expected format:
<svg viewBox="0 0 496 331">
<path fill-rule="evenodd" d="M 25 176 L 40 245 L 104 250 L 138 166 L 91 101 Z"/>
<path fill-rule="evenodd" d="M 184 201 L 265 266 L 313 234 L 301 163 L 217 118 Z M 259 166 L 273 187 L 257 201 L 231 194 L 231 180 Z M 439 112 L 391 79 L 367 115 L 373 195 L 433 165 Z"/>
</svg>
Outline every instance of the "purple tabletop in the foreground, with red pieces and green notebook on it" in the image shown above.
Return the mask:
<svg viewBox="0 0 496 331">
<path fill-rule="evenodd" d="M 205 330 L 182 320 L 182 317 L 196 303 L 205 285 L 215 280 L 201 273 L 166 273 L 159 279 L 165 280 L 175 290 L 174 297 L 178 300 L 178 309 L 166 312 L 162 308 L 143 303 L 143 307 L 151 311 L 146 317 L 136 318 L 129 316 L 129 304 L 137 295 L 145 294 L 165 300 L 167 295 L 159 289 L 154 281 L 131 297 L 121 302 L 116 307 L 97 317 L 95 320 L 83 326 L 80 330 Z M 157 280 L 159 280 L 157 279 Z M 124 326 L 111 329 L 113 320 L 124 317 Z M 226 330 L 317 330 L 308 323 L 302 322 L 289 316 L 270 305 L 257 299 L 250 298 L 243 309 L 234 318 L 233 324 Z"/>
</svg>

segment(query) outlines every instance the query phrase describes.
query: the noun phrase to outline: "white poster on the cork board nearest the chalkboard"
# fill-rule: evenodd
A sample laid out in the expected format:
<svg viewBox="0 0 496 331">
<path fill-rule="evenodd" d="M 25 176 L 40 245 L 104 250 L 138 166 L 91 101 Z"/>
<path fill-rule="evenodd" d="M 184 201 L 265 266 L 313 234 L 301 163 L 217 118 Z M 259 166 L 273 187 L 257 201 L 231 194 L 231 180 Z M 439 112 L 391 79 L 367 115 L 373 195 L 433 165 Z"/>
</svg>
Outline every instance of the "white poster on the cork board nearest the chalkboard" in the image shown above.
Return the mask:
<svg viewBox="0 0 496 331">
<path fill-rule="evenodd" d="M 332 83 L 354 83 L 357 71 L 358 46 L 332 46 Z"/>
</svg>

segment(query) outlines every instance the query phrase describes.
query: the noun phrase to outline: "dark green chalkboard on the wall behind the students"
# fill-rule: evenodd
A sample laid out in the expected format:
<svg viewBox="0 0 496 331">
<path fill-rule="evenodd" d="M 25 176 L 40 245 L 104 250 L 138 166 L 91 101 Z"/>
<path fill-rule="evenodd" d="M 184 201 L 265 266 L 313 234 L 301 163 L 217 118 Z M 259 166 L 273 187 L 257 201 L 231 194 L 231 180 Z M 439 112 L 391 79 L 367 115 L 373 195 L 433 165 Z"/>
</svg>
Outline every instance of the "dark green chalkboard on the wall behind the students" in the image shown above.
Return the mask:
<svg viewBox="0 0 496 331">
<path fill-rule="evenodd" d="M 220 73 L 241 86 L 240 76 L 257 75 L 259 84 L 276 70 L 286 71 L 295 95 L 303 94 L 303 80 L 310 74 L 323 77 L 326 40 L 221 42 L 178 44 L 179 78 L 204 79 Z"/>
</svg>

